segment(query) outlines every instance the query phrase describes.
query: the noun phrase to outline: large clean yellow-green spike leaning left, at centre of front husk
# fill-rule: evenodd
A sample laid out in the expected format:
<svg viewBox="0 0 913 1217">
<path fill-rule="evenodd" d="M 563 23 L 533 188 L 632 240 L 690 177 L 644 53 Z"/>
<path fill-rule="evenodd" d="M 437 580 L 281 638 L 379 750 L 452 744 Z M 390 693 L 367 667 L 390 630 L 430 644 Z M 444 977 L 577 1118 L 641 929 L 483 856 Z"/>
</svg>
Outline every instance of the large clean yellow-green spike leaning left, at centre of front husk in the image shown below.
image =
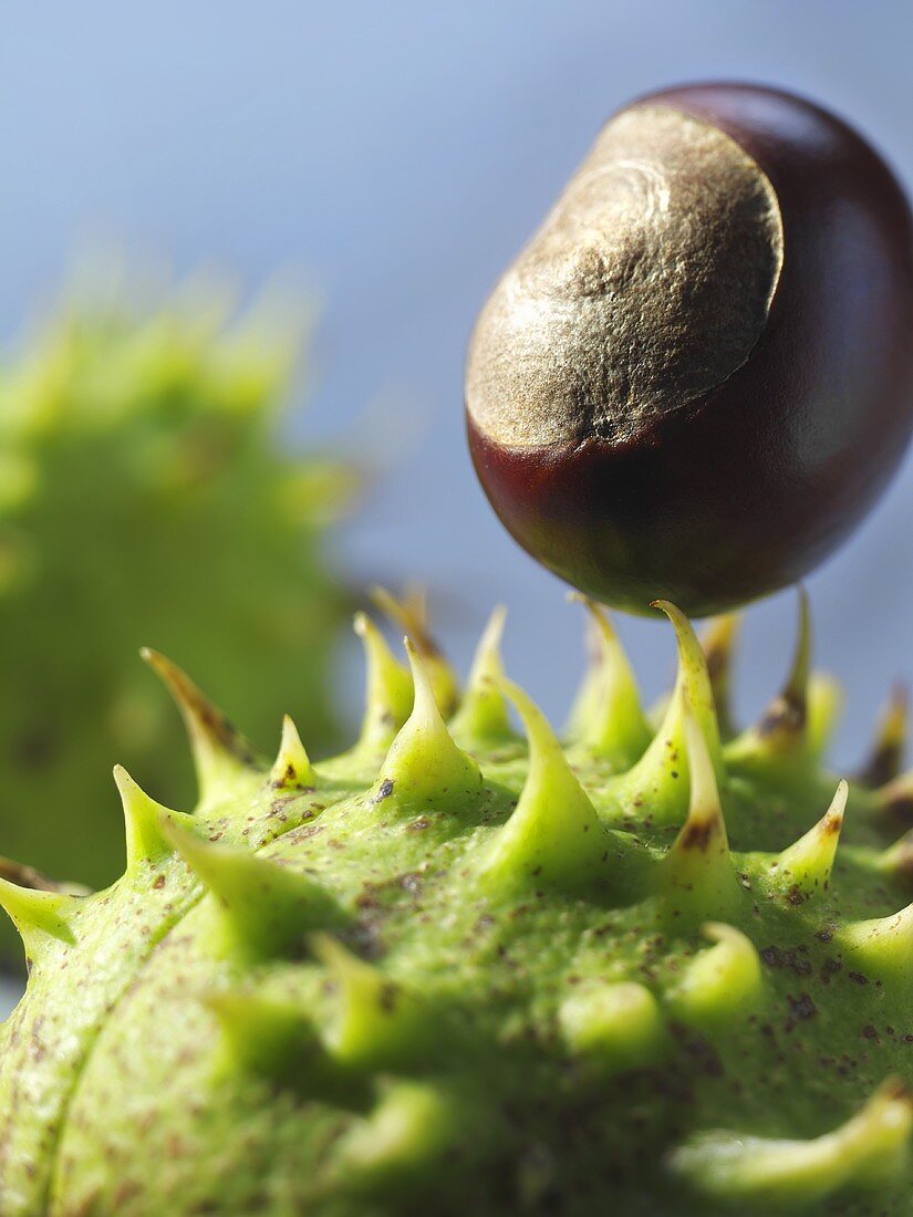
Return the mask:
<svg viewBox="0 0 913 1217">
<path fill-rule="evenodd" d="M 609 835 L 545 716 L 517 685 L 502 688 L 526 728 L 530 767 L 514 813 L 482 847 L 480 874 L 498 887 L 579 887 L 606 871 Z"/>
</svg>

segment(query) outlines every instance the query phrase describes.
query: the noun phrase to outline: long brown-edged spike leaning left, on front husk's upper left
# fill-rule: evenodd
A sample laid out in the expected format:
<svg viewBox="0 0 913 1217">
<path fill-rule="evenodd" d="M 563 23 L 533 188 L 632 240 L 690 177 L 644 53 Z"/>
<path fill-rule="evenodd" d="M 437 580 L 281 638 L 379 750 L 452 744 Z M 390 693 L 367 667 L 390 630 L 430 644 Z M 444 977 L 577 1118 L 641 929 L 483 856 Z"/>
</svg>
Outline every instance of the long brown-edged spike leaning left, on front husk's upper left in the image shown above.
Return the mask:
<svg viewBox="0 0 913 1217">
<path fill-rule="evenodd" d="M 240 774 L 256 769 L 257 757 L 251 745 L 175 663 L 147 646 L 140 655 L 164 682 L 184 717 L 200 802 L 219 800 L 237 783 Z"/>
</svg>

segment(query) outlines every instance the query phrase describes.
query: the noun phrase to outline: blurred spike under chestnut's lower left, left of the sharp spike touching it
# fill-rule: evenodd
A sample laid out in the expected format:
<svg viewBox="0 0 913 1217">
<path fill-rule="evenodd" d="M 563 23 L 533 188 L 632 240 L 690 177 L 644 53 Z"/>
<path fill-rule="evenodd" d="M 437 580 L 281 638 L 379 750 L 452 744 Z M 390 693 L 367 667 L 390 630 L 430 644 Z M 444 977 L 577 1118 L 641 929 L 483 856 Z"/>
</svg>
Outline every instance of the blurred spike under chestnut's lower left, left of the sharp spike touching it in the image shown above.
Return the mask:
<svg viewBox="0 0 913 1217">
<path fill-rule="evenodd" d="M 621 772 L 644 755 L 652 733 L 628 657 L 607 613 L 577 591 L 570 593 L 568 600 L 588 611 L 595 640 L 589 672 L 571 711 L 570 739 Z"/>
</svg>

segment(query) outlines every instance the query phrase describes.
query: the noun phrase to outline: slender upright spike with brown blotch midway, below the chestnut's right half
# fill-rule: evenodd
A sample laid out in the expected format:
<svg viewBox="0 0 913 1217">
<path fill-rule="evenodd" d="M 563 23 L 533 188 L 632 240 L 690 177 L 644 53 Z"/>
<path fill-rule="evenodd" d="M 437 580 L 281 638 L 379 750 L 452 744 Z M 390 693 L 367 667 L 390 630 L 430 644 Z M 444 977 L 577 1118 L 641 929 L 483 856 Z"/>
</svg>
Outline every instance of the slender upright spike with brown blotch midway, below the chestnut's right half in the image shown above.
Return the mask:
<svg viewBox="0 0 913 1217">
<path fill-rule="evenodd" d="M 723 918 L 739 905 L 723 809 L 710 750 L 685 701 L 684 728 L 690 769 L 688 818 L 657 877 L 663 915 L 673 920 Z"/>
</svg>

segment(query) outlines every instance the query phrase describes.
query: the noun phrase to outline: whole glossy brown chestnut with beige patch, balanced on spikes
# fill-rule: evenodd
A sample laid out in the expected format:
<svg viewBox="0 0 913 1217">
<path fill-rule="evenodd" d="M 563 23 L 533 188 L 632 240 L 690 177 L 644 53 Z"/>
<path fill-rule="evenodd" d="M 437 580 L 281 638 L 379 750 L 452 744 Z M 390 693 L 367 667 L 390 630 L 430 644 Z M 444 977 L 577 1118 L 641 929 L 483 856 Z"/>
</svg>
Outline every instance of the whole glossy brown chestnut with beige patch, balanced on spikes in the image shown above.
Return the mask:
<svg viewBox="0 0 913 1217">
<path fill-rule="evenodd" d="M 800 579 L 913 427 L 913 224 L 817 105 L 698 84 L 620 111 L 495 286 L 472 460 L 587 595 L 722 612 Z"/>
</svg>

